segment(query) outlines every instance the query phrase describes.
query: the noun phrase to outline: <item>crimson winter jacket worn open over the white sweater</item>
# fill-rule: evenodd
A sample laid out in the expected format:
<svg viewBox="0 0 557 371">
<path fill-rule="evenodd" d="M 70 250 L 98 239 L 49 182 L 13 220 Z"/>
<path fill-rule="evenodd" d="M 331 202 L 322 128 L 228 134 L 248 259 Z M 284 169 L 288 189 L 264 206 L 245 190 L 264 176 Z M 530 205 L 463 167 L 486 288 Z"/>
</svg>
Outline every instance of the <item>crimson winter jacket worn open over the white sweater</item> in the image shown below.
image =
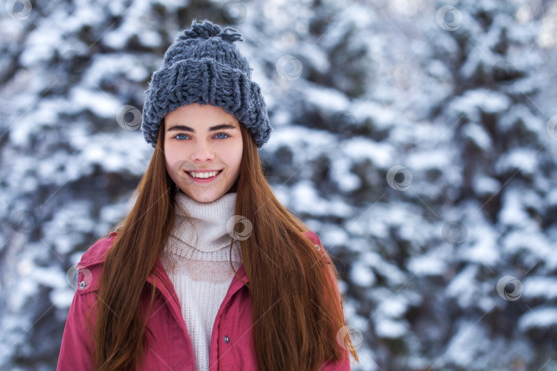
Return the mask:
<svg viewBox="0 0 557 371">
<path fill-rule="evenodd" d="M 92 339 L 87 329 L 86 316 L 96 300 L 102 262 L 116 234 L 117 232 L 112 232 L 109 237 L 102 238 L 89 247 L 76 266 L 80 269 L 78 287 L 69 308 L 57 370 L 92 370 Z M 319 251 L 324 252 L 314 232 L 305 232 L 305 234 Z M 331 264 L 328 258 L 327 264 Z M 146 325 L 153 334 L 145 331 L 150 348 L 144 358 L 144 369 L 195 371 L 193 347 L 182 317 L 178 297 L 160 258 L 157 259 L 154 271 L 159 291 Z M 243 264 L 238 269 L 238 275 L 248 282 Z M 147 278 L 147 282 L 153 284 L 151 276 Z M 144 295 L 146 300 L 142 302 L 145 311 L 149 305 L 147 296 Z M 91 313 L 91 316 L 95 315 L 96 308 Z M 212 328 L 209 366 L 211 371 L 259 370 L 252 327 L 252 302 L 248 287 L 234 276 Z M 154 341 L 153 337 L 157 341 Z M 325 362 L 321 370 L 350 370 L 349 354 L 347 350 L 344 351 L 346 353 L 344 362 Z"/>
</svg>

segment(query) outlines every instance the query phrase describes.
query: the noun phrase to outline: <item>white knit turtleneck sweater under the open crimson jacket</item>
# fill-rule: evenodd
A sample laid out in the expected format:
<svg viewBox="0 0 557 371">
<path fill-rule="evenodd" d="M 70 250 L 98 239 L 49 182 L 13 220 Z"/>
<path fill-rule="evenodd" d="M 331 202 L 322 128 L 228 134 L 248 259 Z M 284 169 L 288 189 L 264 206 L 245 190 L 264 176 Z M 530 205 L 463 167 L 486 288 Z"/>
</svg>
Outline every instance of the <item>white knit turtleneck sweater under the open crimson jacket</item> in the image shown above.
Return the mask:
<svg viewBox="0 0 557 371">
<path fill-rule="evenodd" d="M 196 371 L 209 370 L 212 326 L 234 278 L 226 222 L 234 216 L 236 196 L 227 193 L 202 203 L 178 191 L 175 224 L 160 257 L 182 307 Z M 241 262 L 239 240 L 234 240 L 234 269 Z"/>
</svg>

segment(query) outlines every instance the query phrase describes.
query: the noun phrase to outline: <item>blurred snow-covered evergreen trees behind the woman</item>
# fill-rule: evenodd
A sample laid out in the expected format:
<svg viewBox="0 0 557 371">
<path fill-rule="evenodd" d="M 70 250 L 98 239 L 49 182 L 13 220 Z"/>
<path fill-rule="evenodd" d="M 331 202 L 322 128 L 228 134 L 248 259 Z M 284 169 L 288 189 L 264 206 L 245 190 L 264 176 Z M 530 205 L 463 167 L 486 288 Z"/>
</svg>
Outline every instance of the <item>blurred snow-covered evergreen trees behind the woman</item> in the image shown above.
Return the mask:
<svg viewBox="0 0 557 371">
<path fill-rule="evenodd" d="M 557 370 L 556 1 L 3 4 L 1 370 L 56 367 L 66 273 L 130 206 L 144 90 L 193 18 L 243 35 L 353 370 Z"/>
</svg>

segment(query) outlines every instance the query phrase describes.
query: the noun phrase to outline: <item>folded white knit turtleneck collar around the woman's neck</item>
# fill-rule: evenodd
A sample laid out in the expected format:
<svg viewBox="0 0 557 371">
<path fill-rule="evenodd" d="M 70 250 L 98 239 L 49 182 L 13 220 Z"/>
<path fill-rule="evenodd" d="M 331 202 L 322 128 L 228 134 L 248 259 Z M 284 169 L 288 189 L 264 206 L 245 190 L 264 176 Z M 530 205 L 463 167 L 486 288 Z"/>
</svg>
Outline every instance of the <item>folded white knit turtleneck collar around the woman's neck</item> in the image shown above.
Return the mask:
<svg viewBox="0 0 557 371">
<path fill-rule="evenodd" d="M 199 202 L 178 190 L 171 235 L 200 251 L 210 252 L 229 247 L 232 236 L 228 234 L 226 226 L 234 216 L 236 198 L 237 192 L 230 192 L 215 201 Z"/>
</svg>

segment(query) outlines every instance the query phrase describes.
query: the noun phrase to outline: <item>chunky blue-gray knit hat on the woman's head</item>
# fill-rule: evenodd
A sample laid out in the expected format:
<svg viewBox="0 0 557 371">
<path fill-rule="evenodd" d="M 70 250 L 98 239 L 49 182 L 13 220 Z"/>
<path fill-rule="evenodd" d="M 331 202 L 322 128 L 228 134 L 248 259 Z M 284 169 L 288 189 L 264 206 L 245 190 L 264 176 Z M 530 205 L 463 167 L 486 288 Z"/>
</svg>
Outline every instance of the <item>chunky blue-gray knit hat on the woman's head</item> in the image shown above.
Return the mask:
<svg viewBox="0 0 557 371">
<path fill-rule="evenodd" d="M 153 72 L 145 91 L 142 131 L 153 148 L 162 119 L 171 111 L 190 103 L 212 104 L 243 123 L 252 133 L 257 148 L 273 131 L 261 88 L 251 80 L 252 68 L 234 41 L 241 34 L 194 19 L 190 30 L 178 34 L 164 54 L 162 66 Z"/>
</svg>

